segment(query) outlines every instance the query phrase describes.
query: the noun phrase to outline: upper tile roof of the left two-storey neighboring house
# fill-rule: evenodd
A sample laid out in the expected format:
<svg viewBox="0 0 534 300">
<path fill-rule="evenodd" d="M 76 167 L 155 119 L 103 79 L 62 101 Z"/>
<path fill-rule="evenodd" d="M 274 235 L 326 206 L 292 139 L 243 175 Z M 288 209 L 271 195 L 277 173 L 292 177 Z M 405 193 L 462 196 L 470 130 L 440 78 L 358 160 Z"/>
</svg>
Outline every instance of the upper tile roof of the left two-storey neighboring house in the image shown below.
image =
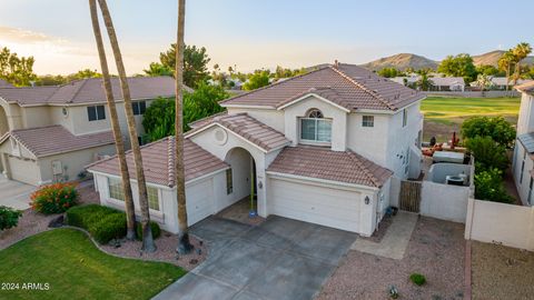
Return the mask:
<svg viewBox="0 0 534 300">
<path fill-rule="evenodd" d="M 119 79 L 111 78 L 111 86 L 115 99 L 122 100 Z M 128 86 L 134 100 L 175 96 L 175 80 L 171 77 L 132 77 L 128 78 Z M 20 106 L 106 102 L 101 78 L 81 79 L 55 87 L 0 88 L 0 98 Z"/>
</svg>

